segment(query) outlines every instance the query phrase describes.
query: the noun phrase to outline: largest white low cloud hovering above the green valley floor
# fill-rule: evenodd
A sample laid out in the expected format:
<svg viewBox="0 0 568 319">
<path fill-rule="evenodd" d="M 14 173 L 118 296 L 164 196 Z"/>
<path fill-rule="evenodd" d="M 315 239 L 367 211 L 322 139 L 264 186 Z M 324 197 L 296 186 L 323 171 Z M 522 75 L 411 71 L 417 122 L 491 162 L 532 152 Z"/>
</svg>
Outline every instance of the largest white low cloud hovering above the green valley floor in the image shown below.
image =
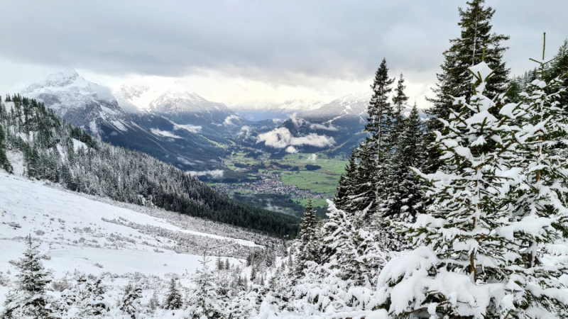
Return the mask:
<svg viewBox="0 0 568 319">
<path fill-rule="evenodd" d="M 335 144 L 334 138 L 326 135 L 310 133 L 305 136 L 294 137 L 288 128 L 275 128 L 270 132 L 258 135 L 257 143 L 264 142 L 264 145 L 274 148 L 286 148 L 288 146 L 309 145 L 315 147 L 327 147 Z"/>
</svg>

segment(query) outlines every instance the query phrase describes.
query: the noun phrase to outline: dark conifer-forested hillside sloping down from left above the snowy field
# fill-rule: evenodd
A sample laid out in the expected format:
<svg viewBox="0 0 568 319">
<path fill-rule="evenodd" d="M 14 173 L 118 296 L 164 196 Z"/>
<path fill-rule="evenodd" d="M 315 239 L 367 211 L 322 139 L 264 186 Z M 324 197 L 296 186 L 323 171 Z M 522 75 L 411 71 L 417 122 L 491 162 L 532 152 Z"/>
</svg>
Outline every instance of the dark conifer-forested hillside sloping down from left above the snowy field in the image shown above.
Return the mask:
<svg viewBox="0 0 568 319">
<path fill-rule="evenodd" d="M 0 162 L 11 172 L 6 152 L 23 155 L 26 176 L 72 191 L 280 236 L 295 234 L 297 227 L 293 217 L 236 203 L 180 169 L 92 138 L 23 96 L 7 96 L 0 103 Z"/>
</svg>

